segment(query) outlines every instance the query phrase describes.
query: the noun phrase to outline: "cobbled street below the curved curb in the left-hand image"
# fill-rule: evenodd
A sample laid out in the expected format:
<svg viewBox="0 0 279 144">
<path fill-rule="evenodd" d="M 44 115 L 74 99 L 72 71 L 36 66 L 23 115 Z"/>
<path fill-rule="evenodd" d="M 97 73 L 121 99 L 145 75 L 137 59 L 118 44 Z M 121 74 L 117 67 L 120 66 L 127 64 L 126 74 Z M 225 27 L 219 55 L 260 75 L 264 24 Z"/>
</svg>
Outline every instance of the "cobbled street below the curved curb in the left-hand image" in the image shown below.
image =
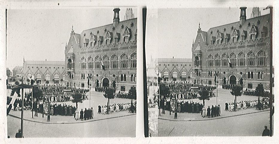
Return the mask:
<svg viewBox="0 0 279 144">
<path fill-rule="evenodd" d="M 7 134 L 14 138 L 20 119 L 7 116 Z M 24 121 L 23 135 L 28 137 L 135 137 L 136 115 L 74 124 L 43 124 Z"/>
</svg>

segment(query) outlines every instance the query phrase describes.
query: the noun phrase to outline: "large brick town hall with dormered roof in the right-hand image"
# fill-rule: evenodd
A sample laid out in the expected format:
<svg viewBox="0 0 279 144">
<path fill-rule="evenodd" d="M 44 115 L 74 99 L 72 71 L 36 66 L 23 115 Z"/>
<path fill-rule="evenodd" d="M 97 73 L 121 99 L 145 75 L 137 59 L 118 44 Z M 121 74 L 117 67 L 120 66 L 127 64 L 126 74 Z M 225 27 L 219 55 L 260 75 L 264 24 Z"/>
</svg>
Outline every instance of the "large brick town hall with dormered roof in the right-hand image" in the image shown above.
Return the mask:
<svg viewBox="0 0 279 144">
<path fill-rule="evenodd" d="M 214 85 L 216 72 L 219 85 L 254 89 L 261 83 L 265 90 L 269 89 L 271 16 L 246 19 L 246 7 L 241 7 L 240 12 L 238 22 L 216 26 L 207 32 L 198 27 L 192 44 L 192 82 Z"/>
</svg>

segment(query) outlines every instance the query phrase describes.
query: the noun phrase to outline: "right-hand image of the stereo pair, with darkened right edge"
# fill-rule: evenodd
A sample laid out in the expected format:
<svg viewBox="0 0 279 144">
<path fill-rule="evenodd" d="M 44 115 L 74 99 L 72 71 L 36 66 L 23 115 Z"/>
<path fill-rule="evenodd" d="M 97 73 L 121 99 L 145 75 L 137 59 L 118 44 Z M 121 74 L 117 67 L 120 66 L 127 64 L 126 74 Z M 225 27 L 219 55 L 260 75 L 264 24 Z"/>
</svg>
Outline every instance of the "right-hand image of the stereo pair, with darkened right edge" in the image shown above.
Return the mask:
<svg viewBox="0 0 279 144">
<path fill-rule="evenodd" d="M 272 7 L 153 9 L 150 31 L 151 137 L 273 134 Z"/>
</svg>

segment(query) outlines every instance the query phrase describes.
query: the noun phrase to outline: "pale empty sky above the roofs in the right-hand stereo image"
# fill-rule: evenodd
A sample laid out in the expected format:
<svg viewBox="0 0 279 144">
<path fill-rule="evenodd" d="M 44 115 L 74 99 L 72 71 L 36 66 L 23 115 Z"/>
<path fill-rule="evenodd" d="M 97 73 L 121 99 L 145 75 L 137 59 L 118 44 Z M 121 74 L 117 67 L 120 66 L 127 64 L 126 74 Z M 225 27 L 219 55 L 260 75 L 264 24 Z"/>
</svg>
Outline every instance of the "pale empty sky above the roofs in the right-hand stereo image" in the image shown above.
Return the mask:
<svg viewBox="0 0 279 144">
<path fill-rule="evenodd" d="M 261 15 L 268 14 L 269 9 L 263 8 L 265 7 L 260 7 Z M 248 7 L 246 19 L 250 19 L 251 12 L 252 7 Z M 212 27 L 237 22 L 239 16 L 239 7 L 147 10 L 147 63 L 151 55 L 152 58 L 192 58 L 191 46 L 196 38 L 199 22 L 201 30 L 207 32 Z"/>
</svg>

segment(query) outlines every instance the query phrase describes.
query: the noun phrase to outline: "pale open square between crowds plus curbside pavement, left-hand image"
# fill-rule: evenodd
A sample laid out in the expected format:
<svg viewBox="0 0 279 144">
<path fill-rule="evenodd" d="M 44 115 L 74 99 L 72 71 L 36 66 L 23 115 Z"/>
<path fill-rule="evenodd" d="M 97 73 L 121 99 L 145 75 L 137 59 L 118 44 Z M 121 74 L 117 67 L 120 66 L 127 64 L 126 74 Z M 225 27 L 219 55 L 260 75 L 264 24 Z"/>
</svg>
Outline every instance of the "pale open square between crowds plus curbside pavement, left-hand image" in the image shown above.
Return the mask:
<svg viewBox="0 0 279 144">
<path fill-rule="evenodd" d="M 88 92 L 89 95 L 89 92 Z M 113 117 L 120 117 L 120 116 L 128 116 L 132 115 L 133 113 L 128 113 L 128 110 L 121 111 L 121 112 L 116 112 L 116 113 L 110 113 L 110 114 L 98 114 L 98 105 L 106 105 L 107 104 L 107 99 L 104 98 L 103 93 L 101 92 L 95 92 L 91 91 L 91 100 L 84 100 L 83 103 L 78 103 L 78 109 L 81 110 L 81 108 L 84 110 L 85 107 L 89 107 L 89 103 L 91 102 L 91 107 L 93 107 L 94 110 L 94 118 L 89 119 L 87 121 L 95 121 L 95 120 L 100 120 L 100 119 L 107 119 L 107 118 L 113 118 Z M 135 100 L 134 100 L 135 101 Z M 128 103 L 131 102 L 130 99 L 122 99 L 122 98 L 114 98 L 110 100 L 110 104 L 117 104 L 117 103 Z M 59 102 L 61 103 L 61 102 Z M 71 104 L 74 105 L 71 101 L 64 102 L 66 104 Z M 34 112 L 33 112 L 34 113 Z M 11 110 L 10 115 L 17 116 L 21 118 L 21 111 L 14 111 Z M 35 114 L 35 113 L 34 113 Z M 42 117 L 43 114 L 38 113 L 38 117 L 33 116 L 32 118 L 32 112 L 31 110 L 26 110 L 24 111 L 23 118 L 31 121 L 36 121 L 36 122 L 45 122 L 45 123 L 75 123 L 75 122 L 87 122 L 87 121 L 81 121 L 78 120 L 76 121 L 73 116 L 50 116 L 50 122 L 47 122 L 47 116 L 44 115 L 44 118 Z"/>
</svg>

